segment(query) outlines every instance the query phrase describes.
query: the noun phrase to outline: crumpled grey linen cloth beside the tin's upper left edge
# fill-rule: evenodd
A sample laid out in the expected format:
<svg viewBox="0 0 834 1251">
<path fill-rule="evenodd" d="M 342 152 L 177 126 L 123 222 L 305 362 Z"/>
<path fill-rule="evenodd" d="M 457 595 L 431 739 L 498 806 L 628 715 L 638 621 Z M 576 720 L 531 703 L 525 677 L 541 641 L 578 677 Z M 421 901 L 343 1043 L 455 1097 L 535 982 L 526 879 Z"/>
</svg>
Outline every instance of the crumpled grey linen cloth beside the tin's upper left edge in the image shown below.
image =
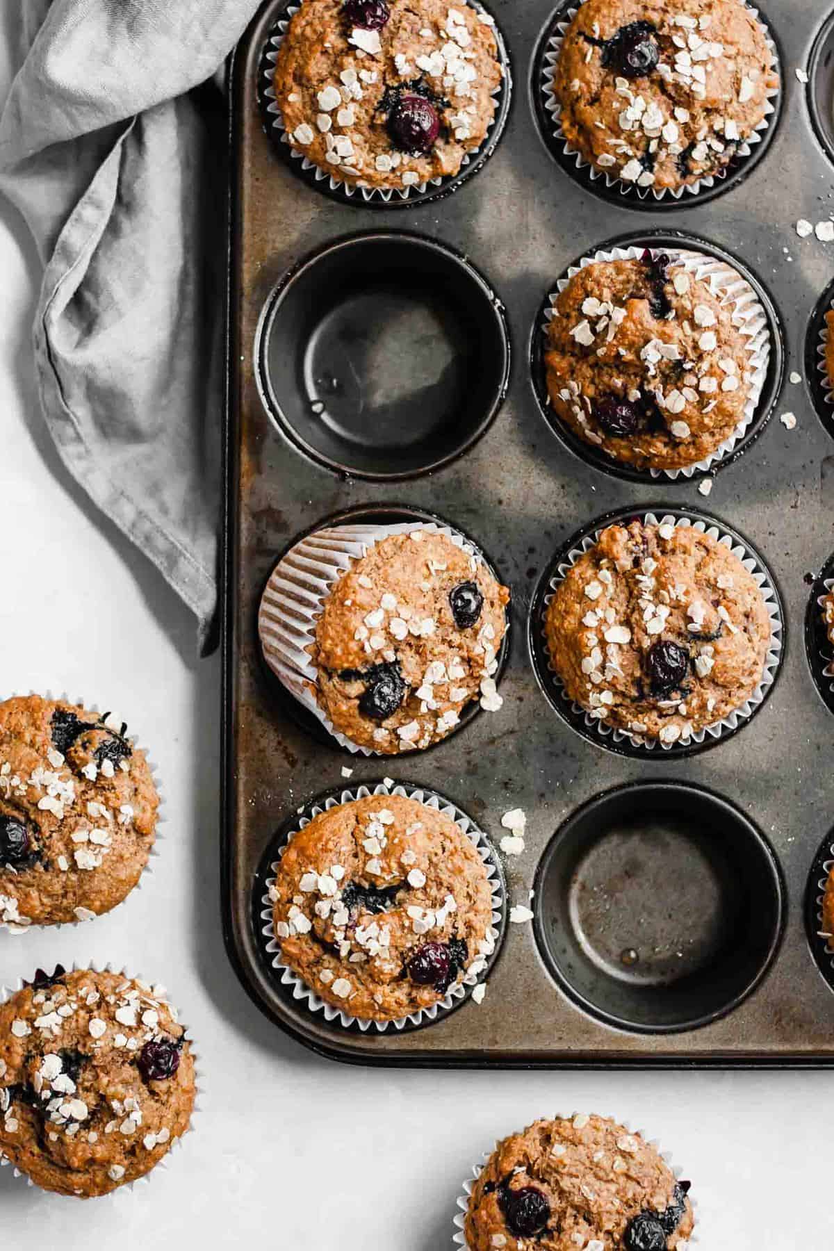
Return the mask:
<svg viewBox="0 0 834 1251">
<path fill-rule="evenodd" d="M 216 604 L 225 124 L 258 0 L 23 0 L 0 190 L 45 271 L 34 347 L 65 464 L 194 610 Z M 16 24 L 16 29 L 15 28 Z"/>
</svg>

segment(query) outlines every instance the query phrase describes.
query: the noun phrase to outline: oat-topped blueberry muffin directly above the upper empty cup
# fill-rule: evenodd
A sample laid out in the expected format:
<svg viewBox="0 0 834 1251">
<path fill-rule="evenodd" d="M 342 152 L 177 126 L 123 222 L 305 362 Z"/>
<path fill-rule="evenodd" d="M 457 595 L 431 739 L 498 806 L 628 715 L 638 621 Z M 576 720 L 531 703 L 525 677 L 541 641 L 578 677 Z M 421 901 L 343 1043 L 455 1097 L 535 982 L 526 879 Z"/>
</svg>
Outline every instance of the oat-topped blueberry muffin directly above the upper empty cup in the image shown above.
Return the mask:
<svg viewBox="0 0 834 1251">
<path fill-rule="evenodd" d="M 304 0 L 274 79 L 293 146 L 358 186 L 456 174 L 495 114 L 493 26 L 465 3 Z"/>
</svg>

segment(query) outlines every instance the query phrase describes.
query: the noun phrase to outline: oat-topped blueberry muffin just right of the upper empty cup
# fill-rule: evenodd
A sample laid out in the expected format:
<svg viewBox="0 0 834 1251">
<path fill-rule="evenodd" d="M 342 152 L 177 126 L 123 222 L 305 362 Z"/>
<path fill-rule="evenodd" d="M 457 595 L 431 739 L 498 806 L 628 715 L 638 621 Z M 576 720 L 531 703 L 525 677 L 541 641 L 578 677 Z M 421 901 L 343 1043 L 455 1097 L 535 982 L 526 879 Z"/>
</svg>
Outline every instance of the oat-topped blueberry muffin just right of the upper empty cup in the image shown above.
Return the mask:
<svg viewBox="0 0 834 1251">
<path fill-rule="evenodd" d="M 553 306 L 544 363 L 560 420 L 635 469 L 709 457 L 744 419 L 751 389 L 730 308 L 663 253 L 574 274 Z"/>
</svg>

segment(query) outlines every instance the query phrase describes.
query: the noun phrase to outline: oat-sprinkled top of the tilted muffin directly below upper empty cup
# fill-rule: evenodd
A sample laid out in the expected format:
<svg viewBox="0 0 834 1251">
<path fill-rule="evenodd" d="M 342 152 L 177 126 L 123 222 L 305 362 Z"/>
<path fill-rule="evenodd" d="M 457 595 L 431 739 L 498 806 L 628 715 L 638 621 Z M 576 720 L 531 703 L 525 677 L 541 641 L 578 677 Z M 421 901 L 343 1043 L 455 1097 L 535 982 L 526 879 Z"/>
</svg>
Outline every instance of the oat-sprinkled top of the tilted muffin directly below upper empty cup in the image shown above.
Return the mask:
<svg viewBox="0 0 834 1251">
<path fill-rule="evenodd" d="M 383 754 L 429 747 L 473 699 L 495 711 L 510 593 L 445 534 L 391 534 L 353 562 L 316 622 L 313 694 L 334 727 Z"/>
</svg>

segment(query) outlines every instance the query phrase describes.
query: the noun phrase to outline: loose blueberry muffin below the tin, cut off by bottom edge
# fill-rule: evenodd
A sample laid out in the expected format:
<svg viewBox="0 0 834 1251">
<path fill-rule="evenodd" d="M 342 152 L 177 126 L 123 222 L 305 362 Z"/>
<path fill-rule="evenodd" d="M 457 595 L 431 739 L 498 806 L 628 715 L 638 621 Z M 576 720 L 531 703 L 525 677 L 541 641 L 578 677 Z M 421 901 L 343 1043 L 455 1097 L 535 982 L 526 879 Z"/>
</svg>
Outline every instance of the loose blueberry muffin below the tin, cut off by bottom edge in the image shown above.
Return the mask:
<svg viewBox="0 0 834 1251">
<path fill-rule="evenodd" d="M 689 1182 L 601 1116 L 535 1121 L 495 1147 L 469 1200 L 469 1251 L 684 1251 Z"/>
</svg>

